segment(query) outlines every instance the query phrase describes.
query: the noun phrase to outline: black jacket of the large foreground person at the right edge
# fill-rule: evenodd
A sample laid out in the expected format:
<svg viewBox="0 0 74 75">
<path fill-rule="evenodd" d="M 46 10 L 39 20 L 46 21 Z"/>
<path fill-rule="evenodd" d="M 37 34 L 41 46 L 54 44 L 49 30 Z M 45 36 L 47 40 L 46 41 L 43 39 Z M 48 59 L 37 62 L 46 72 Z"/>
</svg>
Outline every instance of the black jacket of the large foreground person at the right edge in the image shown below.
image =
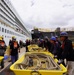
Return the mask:
<svg viewBox="0 0 74 75">
<path fill-rule="evenodd" d="M 62 53 L 61 53 L 62 59 L 66 58 L 68 61 L 74 61 L 74 50 L 73 50 L 71 40 L 66 39 L 64 41 L 64 48 L 61 49 L 62 49 Z"/>
</svg>

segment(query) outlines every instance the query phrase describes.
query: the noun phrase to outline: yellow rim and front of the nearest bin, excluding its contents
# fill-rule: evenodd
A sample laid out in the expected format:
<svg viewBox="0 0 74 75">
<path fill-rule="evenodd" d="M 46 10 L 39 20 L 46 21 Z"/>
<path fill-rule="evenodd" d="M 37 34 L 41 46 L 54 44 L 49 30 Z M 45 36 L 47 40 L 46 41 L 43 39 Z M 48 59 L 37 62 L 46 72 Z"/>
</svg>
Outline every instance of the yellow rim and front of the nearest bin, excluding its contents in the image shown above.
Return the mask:
<svg viewBox="0 0 74 75">
<path fill-rule="evenodd" d="M 31 53 L 32 52 L 28 52 L 28 54 L 31 54 Z M 37 53 L 37 52 L 35 52 L 35 53 Z M 51 56 L 51 58 L 54 57 L 51 53 L 48 53 L 48 52 L 41 52 L 41 53 Z M 21 74 L 22 75 L 63 75 L 64 73 L 67 72 L 67 69 L 62 64 L 59 65 L 61 70 L 30 70 L 30 69 L 18 69 L 18 68 L 16 69 L 15 66 L 17 64 L 22 63 L 24 61 L 24 59 L 25 59 L 25 55 L 23 55 L 13 65 L 11 65 L 10 69 L 15 73 L 15 75 L 21 75 Z M 58 60 L 54 59 L 54 62 L 57 64 Z"/>
</svg>

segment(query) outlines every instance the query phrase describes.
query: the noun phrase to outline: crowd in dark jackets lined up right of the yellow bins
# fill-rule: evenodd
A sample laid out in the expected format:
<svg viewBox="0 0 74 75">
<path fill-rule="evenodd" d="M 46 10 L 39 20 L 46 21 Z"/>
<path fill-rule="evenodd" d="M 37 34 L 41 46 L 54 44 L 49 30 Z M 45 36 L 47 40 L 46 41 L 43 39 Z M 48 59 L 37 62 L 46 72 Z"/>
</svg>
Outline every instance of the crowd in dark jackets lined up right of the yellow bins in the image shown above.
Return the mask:
<svg viewBox="0 0 74 75">
<path fill-rule="evenodd" d="M 27 40 L 26 49 L 30 44 L 37 44 L 39 47 L 46 48 L 59 60 L 59 63 L 67 67 L 68 75 L 74 75 L 74 49 L 67 32 L 61 32 L 60 37 L 52 36 L 48 38 L 46 36 L 44 39 Z M 64 62 L 64 60 L 66 61 Z"/>
</svg>

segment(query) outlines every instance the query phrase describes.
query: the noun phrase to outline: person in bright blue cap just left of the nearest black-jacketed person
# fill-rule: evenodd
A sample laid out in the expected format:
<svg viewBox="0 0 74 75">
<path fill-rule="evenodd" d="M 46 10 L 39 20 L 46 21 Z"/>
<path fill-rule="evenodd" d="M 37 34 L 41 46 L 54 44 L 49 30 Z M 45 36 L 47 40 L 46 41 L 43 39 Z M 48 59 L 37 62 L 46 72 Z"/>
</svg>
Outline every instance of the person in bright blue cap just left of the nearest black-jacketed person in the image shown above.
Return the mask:
<svg viewBox="0 0 74 75">
<path fill-rule="evenodd" d="M 50 42 L 52 43 L 50 52 L 51 52 L 52 54 L 54 54 L 55 56 L 57 56 L 57 58 L 58 58 L 58 51 L 59 51 L 59 49 L 60 49 L 60 45 L 56 42 L 56 37 L 52 36 L 52 37 L 50 38 Z"/>
</svg>

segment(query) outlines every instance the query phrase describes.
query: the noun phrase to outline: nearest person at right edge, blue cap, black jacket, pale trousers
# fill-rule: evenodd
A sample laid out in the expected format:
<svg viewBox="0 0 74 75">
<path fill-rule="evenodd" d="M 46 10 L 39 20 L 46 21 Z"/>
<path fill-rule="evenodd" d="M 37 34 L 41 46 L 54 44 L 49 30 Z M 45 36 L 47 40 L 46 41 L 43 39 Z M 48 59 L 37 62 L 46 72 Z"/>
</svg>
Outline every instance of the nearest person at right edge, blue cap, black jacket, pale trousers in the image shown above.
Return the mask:
<svg viewBox="0 0 74 75">
<path fill-rule="evenodd" d="M 72 41 L 68 39 L 67 32 L 60 33 L 60 40 L 62 41 L 61 59 L 67 60 L 68 75 L 74 75 L 74 50 Z"/>
</svg>

